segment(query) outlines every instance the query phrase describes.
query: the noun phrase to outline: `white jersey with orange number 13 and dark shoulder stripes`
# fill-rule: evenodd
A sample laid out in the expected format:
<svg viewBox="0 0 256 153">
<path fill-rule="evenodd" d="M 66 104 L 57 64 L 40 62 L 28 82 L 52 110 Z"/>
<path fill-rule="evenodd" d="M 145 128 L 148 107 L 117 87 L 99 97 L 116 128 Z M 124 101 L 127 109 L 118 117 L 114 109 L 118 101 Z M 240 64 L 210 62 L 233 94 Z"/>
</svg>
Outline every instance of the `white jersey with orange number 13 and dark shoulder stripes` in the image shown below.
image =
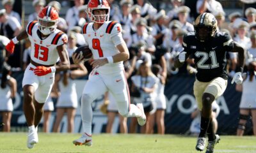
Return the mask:
<svg viewBox="0 0 256 153">
<path fill-rule="evenodd" d="M 59 61 L 57 47 L 67 43 L 67 34 L 56 29 L 47 38 L 42 39 L 38 36 L 38 22 L 29 22 L 26 31 L 31 41 L 31 59 L 38 64 L 52 65 Z"/>
</svg>

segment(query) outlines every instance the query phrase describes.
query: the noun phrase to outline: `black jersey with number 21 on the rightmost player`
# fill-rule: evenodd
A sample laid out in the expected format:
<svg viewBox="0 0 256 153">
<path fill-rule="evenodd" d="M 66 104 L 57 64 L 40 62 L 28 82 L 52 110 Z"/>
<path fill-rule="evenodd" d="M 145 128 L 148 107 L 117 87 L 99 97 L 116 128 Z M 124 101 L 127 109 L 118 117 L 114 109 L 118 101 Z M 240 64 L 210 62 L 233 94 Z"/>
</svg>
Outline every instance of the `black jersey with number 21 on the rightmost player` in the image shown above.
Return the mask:
<svg viewBox="0 0 256 153">
<path fill-rule="evenodd" d="M 227 80 L 226 54 L 234 47 L 234 41 L 228 33 L 216 33 L 205 43 L 198 41 L 195 33 L 188 33 L 183 41 L 184 52 L 195 59 L 198 81 L 210 82 L 216 77 Z"/>
</svg>

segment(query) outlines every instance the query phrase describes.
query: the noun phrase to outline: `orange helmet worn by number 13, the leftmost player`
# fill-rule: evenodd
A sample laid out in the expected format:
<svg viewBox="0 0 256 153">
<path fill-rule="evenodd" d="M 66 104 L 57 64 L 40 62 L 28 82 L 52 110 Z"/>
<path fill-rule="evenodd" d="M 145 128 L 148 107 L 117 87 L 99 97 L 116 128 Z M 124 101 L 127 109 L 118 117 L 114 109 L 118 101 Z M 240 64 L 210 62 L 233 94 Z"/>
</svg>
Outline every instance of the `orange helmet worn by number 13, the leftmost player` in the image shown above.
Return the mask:
<svg viewBox="0 0 256 153">
<path fill-rule="evenodd" d="M 42 34 L 48 35 L 55 31 L 57 27 L 57 22 L 59 19 L 59 14 L 52 6 L 47 6 L 43 8 L 40 13 L 38 13 L 37 20 L 39 23 L 38 29 Z"/>
</svg>

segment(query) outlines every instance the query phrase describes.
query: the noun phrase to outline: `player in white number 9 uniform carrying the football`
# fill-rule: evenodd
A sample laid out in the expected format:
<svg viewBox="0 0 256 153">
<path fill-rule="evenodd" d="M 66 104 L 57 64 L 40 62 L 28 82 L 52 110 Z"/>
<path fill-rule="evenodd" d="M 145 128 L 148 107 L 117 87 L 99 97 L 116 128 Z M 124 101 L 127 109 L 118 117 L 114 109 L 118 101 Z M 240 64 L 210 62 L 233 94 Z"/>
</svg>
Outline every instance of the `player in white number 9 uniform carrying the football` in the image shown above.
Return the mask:
<svg viewBox="0 0 256 153">
<path fill-rule="evenodd" d="M 75 145 L 92 145 L 92 102 L 106 91 L 111 92 L 124 117 L 137 117 L 143 126 L 146 116 L 143 105 L 130 104 L 129 89 L 125 78 L 123 61 L 129 59 L 129 50 L 122 38 L 122 27 L 109 21 L 109 4 L 106 0 L 90 0 L 88 15 L 92 22 L 83 26 L 84 40 L 93 53 L 93 67 L 81 99 L 83 135 L 74 140 Z M 80 55 L 72 56 L 75 64 Z"/>
</svg>

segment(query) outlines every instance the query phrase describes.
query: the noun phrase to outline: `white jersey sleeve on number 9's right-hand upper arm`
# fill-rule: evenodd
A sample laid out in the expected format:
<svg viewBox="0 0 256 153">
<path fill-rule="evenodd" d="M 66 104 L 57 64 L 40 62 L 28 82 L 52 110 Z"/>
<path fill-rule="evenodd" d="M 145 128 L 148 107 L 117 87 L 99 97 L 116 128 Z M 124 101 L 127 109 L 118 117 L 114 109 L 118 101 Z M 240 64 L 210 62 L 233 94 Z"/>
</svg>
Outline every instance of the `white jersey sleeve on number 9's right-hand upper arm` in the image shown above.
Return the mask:
<svg viewBox="0 0 256 153">
<path fill-rule="evenodd" d="M 122 27 L 120 24 L 116 24 L 113 27 L 110 36 L 111 36 L 111 40 L 113 41 L 115 46 L 124 42 L 124 39 L 122 37 Z"/>
</svg>

